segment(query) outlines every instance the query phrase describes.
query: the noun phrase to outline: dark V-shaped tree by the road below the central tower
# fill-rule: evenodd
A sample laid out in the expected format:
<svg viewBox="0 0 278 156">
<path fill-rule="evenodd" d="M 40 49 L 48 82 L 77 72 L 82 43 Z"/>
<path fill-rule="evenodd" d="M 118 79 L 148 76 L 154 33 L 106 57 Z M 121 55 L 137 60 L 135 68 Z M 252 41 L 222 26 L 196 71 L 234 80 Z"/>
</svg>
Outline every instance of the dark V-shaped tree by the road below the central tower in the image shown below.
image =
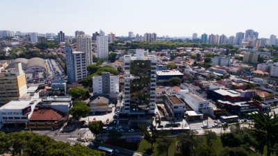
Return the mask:
<svg viewBox="0 0 278 156">
<path fill-rule="evenodd" d="M 145 125 L 140 125 L 140 128 L 142 130 L 142 136 L 144 137 L 144 139 L 151 144 L 151 149 L 154 147 L 154 143 L 156 143 L 156 140 L 158 139 L 158 133 L 156 130 L 156 127 L 154 125 L 150 126 L 150 130 L 151 133 L 150 134 L 147 130 L 147 128 L 145 127 Z"/>
</svg>

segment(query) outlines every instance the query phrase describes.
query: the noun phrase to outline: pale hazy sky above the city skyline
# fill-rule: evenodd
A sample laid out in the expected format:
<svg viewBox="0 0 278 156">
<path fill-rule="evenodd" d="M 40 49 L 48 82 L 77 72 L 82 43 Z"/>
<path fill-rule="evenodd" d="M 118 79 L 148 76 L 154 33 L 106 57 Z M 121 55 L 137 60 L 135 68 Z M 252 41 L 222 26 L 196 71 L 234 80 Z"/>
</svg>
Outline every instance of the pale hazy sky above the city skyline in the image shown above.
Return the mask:
<svg viewBox="0 0 278 156">
<path fill-rule="evenodd" d="M 1 0 L 0 30 L 229 37 L 253 29 L 269 38 L 278 35 L 277 6 L 276 0 Z"/>
</svg>

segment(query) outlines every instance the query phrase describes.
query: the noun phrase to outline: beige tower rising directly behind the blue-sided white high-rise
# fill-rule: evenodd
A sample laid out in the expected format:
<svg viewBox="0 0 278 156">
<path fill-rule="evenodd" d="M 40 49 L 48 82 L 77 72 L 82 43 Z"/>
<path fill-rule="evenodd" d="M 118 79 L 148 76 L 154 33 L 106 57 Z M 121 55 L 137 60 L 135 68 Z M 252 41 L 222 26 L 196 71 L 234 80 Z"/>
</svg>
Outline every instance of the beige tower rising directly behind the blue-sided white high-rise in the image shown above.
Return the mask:
<svg viewBox="0 0 278 156">
<path fill-rule="evenodd" d="M 78 35 L 76 37 L 77 51 L 85 53 L 86 67 L 92 64 L 92 38 L 90 35 Z"/>
</svg>

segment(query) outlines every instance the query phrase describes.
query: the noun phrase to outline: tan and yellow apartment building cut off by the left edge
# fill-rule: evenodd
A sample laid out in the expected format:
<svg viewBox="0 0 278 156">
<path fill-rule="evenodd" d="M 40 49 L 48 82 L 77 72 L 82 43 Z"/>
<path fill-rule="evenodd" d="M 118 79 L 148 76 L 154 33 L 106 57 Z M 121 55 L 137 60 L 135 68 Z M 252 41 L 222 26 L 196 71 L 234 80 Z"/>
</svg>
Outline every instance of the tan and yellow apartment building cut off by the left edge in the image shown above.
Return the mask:
<svg viewBox="0 0 278 156">
<path fill-rule="evenodd" d="M 15 71 L 0 71 L 0 105 L 18 100 L 27 93 L 25 73 L 22 63 L 15 64 Z"/>
</svg>

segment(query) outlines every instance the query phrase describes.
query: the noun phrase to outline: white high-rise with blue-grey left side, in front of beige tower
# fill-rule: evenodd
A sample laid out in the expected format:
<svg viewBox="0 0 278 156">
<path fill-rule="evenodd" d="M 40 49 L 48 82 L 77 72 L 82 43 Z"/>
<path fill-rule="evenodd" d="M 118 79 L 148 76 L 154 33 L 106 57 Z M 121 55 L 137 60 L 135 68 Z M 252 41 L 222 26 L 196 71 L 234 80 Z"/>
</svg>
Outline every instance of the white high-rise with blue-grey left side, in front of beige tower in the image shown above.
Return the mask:
<svg viewBox="0 0 278 156">
<path fill-rule="evenodd" d="M 73 51 L 72 46 L 65 46 L 67 61 L 67 80 L 70 83 L 81 82 L 87 76 L 85 53 Z"/>
</svg>

